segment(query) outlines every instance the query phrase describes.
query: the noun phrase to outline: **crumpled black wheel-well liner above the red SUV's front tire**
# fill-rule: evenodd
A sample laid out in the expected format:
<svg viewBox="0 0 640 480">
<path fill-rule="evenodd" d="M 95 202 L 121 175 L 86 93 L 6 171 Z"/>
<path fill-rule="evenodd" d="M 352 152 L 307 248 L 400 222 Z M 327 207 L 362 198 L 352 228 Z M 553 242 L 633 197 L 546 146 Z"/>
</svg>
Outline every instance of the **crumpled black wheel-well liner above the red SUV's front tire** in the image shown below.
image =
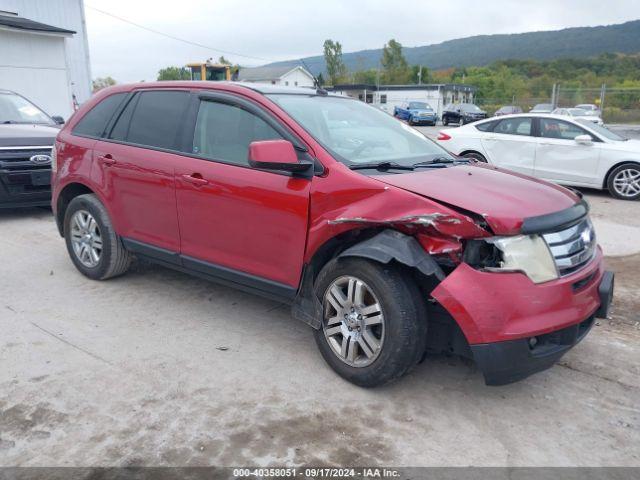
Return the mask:
<svg viewBox="0 0 640 480">
<path fill-rule="evenodd" d="M 445 278 L 440 265 L 431 258 L 418 241 L 397 230 L 383 230 L 375 237 L 347 248 L 338 257 L 362 257 L 384 264 L 396 260 L 403 265 L 415 268 L 423 275 L 434 275 L 438 280 Z"/>
</svg>

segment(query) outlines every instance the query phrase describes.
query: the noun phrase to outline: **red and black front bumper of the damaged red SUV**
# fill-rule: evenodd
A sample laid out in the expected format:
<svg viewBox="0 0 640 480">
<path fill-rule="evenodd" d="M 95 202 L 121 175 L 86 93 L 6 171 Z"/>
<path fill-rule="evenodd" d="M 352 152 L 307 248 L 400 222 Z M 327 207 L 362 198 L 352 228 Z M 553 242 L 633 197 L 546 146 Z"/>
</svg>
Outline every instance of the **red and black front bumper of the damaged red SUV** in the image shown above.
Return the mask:
<svg viewBox="0 0 640 480">
<path fill-rule="evenodd" d="M 607 316 L 614 275 L 602 252 L 566 277 L 536 285 L 526 276 L 460 265 L 433 292 L 456 320 L 487 385 L 551 367 Z"/>
</svg>

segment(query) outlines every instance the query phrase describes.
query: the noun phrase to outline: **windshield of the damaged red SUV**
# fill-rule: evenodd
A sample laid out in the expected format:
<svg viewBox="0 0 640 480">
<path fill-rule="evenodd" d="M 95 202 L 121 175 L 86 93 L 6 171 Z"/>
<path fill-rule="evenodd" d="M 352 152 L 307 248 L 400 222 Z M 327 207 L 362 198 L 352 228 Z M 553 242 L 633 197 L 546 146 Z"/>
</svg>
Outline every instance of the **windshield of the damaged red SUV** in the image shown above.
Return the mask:
<svg viewBox="0 0 640 480">
<path fill-rule="evenodd" d="M 269 95 L 337 160 L 348 166 L 410 166 L 453 157 L 417 130 L 358 100 L 323 95 Z"/>
</svg>

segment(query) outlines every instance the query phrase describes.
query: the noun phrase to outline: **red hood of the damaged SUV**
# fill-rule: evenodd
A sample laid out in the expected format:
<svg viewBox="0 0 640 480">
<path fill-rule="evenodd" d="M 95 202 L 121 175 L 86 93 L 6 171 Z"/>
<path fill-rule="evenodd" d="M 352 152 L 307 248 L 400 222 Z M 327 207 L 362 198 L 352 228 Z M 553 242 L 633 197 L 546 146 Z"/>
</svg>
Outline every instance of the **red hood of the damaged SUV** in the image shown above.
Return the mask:
<svg viewBox="0 0 640 480">
<path fill-rule="evenodd" d="M 565 210 L 580 201 L 566 188 L 487 165 L 459 165 L 374 178 L 482 216 L 497 235 L 516 234 L 525 218 Z"/>
</svg>

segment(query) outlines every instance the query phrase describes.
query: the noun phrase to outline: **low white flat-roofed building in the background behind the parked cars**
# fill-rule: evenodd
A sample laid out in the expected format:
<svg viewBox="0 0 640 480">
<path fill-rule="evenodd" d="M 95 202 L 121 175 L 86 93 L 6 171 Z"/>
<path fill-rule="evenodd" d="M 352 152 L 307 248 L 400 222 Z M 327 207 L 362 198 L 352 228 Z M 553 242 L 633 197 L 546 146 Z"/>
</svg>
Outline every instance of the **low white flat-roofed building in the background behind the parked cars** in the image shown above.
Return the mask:
<svg viewBox="0 0 640 480">
<path fill-rule="evenodd" d="M 336 85 L 331 91 L 357 98 L 366 103 L 383 106 L 393 113 L 395 106 L 404 102 L 426 102 L 442 116 L 442 109 L 449 103 L 473 103 L 476 88 L 459 83 L 428 85 Z"/>
</svg>

